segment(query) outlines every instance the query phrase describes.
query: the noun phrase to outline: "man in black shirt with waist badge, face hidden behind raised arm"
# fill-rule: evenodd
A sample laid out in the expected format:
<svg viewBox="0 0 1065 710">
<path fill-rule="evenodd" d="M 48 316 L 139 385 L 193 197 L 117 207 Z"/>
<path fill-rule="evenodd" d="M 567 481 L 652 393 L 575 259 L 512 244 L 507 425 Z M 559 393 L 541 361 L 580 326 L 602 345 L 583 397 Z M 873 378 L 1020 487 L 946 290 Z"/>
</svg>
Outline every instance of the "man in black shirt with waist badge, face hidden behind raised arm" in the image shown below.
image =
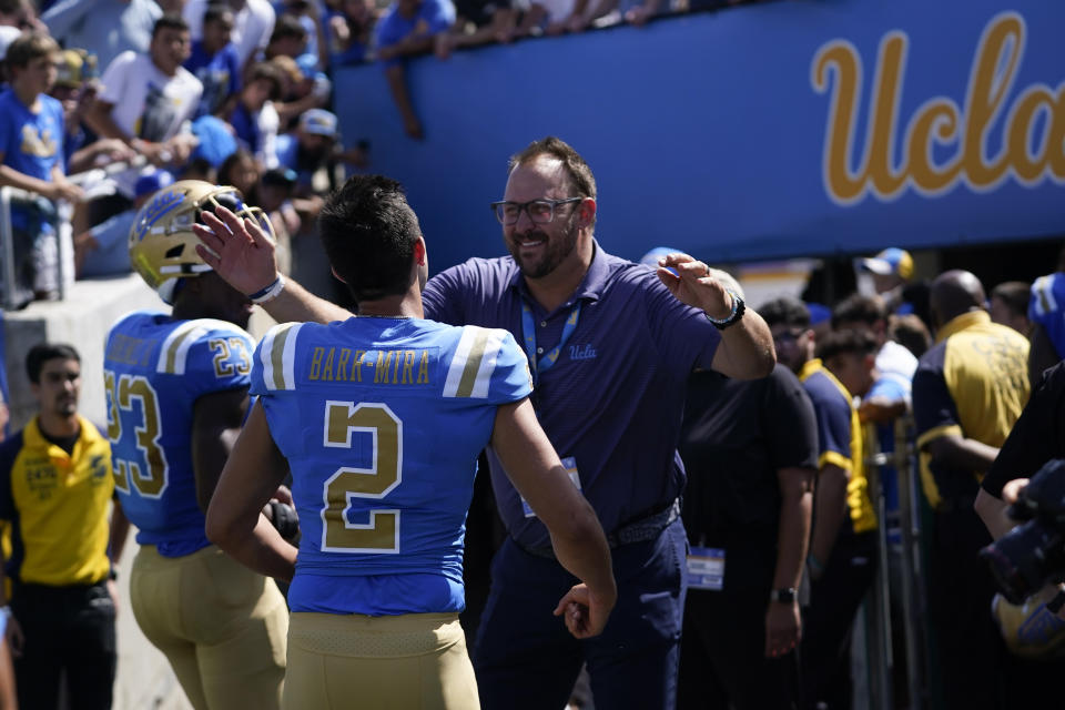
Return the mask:
<svg viewBox="0 0 1065 710">
<path fill-rule="evenodd" d="M 727 274 L 714 276 L 739 293 Z M 784 365 L 757 381 L 697 372 L 680 454 L 691 551 L 678 708 L 792 708 L 818 466 L 813 405 Z"/>
</svg>

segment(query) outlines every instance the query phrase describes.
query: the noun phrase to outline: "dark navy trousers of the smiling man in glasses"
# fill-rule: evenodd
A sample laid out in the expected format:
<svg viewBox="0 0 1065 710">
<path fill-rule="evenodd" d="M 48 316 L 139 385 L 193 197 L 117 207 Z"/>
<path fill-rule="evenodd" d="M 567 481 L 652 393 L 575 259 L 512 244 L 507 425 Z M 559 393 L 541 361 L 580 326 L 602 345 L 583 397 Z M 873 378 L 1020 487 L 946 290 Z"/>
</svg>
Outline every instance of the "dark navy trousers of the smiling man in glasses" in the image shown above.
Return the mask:
<svg viewBox="0 0 1065 710">
<path fill-rule="evenodd" d="M 564 708 L 584 661 L 597 708 L 673 708 L 687 547 L 678 519 L 655 540 L 612 550 L 617 605 L 600 636 L 579 641 L 551 613 L 577 580 L 507 538 L 474 652 L 481 707 Z"/>
</svg>

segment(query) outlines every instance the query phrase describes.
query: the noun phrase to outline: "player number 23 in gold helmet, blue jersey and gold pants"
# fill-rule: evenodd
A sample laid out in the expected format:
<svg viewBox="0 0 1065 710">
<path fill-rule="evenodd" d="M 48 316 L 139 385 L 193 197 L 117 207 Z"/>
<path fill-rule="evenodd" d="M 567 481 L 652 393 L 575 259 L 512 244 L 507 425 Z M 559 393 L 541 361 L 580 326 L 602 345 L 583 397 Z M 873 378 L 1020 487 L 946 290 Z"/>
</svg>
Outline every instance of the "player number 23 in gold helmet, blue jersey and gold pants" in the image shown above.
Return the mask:
<svg viewBox="0 0 1065 710">
<path fill-rule="evenodd" d="M 200 709 L 277 708 L 287 609 L 273 580 L 211 545 L 204 513 L 247 412 L 252 304 L 196 255 L 191 226 L 233 187 L 181 181 L 136 215 L 130 258 L 173 305 L 112 326 L 104 355 L 115 488 L 139 529 L 130 601 Z"/>
</svg>

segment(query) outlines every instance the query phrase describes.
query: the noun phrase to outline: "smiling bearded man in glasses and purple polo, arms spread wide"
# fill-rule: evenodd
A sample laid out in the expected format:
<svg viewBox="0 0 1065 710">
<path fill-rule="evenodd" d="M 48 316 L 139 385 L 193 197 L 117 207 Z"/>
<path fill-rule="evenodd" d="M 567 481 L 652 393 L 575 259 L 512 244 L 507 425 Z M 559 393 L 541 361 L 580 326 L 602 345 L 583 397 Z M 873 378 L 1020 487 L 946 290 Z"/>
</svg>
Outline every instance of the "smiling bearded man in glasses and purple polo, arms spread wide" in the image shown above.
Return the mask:
<svg viewBox="0 0 1065 710">
<path fill-rule="evenodd" d="M 774 363 L 765 323 L 706 264 L 670 254 L 656 272 L 607 254 L 594 237 L 596 200 L 576 151 L 556 138 L 530 144 L 493 205 L 510 256 L 449 268 L 423 294 L 429 318 L 504 327 L 524 344 L 540 424 L 613 548 L 610 621 L 595 639 L 567 639 L 539 608 L 572 578 L 489 453 L 509 536 L 493 561 L 474 655 L 484 708 L 562 707 L 582 662 L 601 707 L 674 707 L 687 581 L 676 448 L 688 375 L 755 378 Z M 263 235 L 223 236 L 207 242 L 221 258 L 199 251 L 236 288 L 254 293 L 275 278 Z M 267 311 L 282 322 L 345 317 L 292 281 Z"/>
</svg>

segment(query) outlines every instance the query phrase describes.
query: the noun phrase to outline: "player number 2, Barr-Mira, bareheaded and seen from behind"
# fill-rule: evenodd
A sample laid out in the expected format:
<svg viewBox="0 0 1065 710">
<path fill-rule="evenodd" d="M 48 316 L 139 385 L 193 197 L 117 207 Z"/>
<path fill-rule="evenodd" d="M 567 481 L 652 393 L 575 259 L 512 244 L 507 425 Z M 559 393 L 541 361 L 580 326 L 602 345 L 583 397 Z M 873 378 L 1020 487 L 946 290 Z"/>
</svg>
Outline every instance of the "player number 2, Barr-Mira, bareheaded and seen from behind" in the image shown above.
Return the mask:
<svg viewBox="0 0 1065 710">
<path fill-rule="evenodd" d="M 256 229 L 219 214 L 204 215 L 213 234 L 196 227 L 201 239 Z M 537 423 L 514 337 L 424 320 L 425 240 L 399 184 L 351 179 L 320 232 L 359 315 L 277 325 L 260 343 L 257 400 L 207 535 L 293 580 L 283 707 L 477 708 L 458 612 L 478 453 L 491 446 L 574 575 L 555 613 L 577 638 L 599 633 L 613 607 L 610 550 Z M 298 550 L 261 515 L 290 467 Z"/>
</svg>

